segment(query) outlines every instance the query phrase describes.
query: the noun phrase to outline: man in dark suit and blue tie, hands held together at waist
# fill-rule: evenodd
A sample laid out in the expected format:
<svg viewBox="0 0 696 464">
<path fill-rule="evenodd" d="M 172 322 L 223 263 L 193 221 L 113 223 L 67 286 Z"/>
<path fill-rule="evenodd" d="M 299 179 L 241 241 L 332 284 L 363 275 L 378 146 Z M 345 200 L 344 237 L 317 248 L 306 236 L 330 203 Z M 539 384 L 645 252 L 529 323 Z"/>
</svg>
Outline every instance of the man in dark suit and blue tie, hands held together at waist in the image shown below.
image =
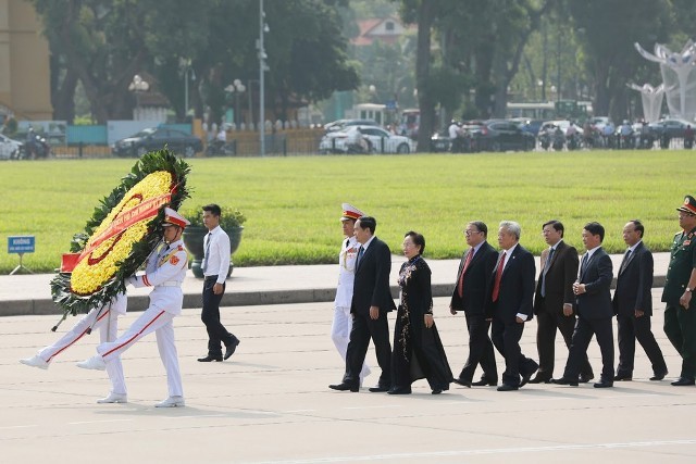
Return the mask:
<svg viewBox="0 0 696 464">
<path fill-rule="evenodd" d="M 601 377 L 595 388 L 613 387 L 613 309 L 611 306 L 611 259 L 601 248 L 605 228 L 599 223 L 587 223 L 583 229 L 583 244 L 587 252 L 580 263 L 577 281 L 573 284 L 577 323 L 566 363 L 563 376 L 554 380 L 560 385 L 577 386 L 577 374 L 583 355 L 593 335 L 601 351 Z"/>
</svg>

